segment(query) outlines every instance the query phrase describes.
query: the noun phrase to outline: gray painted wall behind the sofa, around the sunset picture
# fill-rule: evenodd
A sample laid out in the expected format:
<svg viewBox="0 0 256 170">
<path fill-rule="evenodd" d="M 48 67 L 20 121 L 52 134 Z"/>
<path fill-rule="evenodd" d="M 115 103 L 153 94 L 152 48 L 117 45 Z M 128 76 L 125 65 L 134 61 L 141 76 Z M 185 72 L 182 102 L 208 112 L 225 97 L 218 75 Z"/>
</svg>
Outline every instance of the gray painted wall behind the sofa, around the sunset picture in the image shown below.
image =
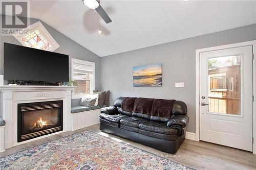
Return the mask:
<svg viewBox="0 0 256 170">
<path fill-rule="evenodd" d="M 101 90 L 111 90 L 111 103 L 118 96 L 184 101 L 187 131 L 195 132 L 196 49 L 250 40 L 256 40 L 256 24 L 103 57 Z M 133 66 L 154 63 L 162 63 L 163 86 L 133 87 Z M 175 82 L 184 82 L 185 87 L 175 88 Z"/>
</svg>

